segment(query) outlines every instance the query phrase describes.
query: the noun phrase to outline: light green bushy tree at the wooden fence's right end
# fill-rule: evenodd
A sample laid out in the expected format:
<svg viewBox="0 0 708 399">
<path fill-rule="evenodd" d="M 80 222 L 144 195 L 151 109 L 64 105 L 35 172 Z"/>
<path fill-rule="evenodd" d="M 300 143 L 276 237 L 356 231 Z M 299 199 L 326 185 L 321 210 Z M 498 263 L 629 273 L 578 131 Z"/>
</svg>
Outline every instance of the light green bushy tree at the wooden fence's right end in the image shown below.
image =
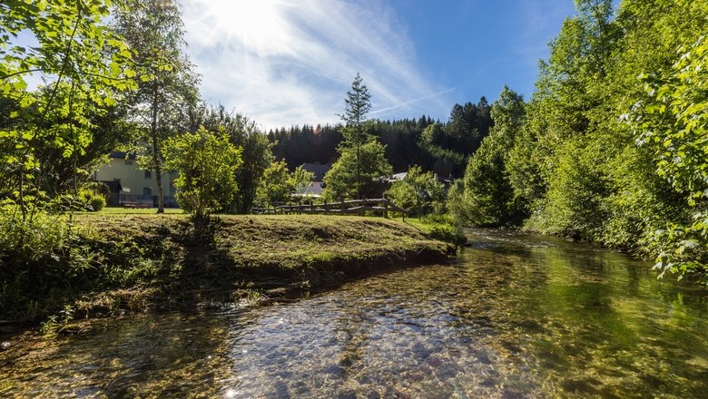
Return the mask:
<svg viewBox="0 0 708 399">
<path fill-rule="evenodd" d="M 433 172 L 412 166 L 403 180 L 387 191 L 388 199 L 404 209 L 416 209 L 418 218 L 430 212 L 441 214 L 445 208 L 445 186 Z"/>
</svg>

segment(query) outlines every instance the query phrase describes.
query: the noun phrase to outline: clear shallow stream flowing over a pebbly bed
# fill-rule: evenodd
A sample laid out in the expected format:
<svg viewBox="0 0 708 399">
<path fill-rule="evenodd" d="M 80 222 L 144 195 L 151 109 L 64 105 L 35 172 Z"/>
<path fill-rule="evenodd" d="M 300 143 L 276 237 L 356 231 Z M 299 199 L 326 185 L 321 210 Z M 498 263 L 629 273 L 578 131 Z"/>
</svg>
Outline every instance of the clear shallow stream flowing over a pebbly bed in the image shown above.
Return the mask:
<svg viewBox="0 0 708 399">
<path fill-rule="evenodd" d="M 4 397 L 708 397 L 708 292 L 555 238 L 301 300 L 93 322 L 0 353 Z"/>
</svg>

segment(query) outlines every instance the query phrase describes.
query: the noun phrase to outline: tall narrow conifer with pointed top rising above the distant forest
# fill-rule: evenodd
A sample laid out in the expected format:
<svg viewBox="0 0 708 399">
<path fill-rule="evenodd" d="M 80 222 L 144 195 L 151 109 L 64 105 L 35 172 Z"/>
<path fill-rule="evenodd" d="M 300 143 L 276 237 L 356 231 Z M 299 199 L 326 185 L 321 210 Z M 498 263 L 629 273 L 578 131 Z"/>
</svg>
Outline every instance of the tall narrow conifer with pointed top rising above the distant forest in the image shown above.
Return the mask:
<svg viewBox="0 0 708 399">
<path fill-rule="evenodd" d="M 361 75 L 357 73 L 351 83 L 351 91 L 347 92 L 344 99 L 344 113 L 339 115 L 345 126 L 342 130 L 344 145 L 355 150 L 356 165 L 356 190 L 357 198 L 361 198 L 361 146 L 371 140 L 371 135 L 367 131 L 367 112 L 371 110 L 371 94 L 366 84 L 363 83 Z"/>
</svg>

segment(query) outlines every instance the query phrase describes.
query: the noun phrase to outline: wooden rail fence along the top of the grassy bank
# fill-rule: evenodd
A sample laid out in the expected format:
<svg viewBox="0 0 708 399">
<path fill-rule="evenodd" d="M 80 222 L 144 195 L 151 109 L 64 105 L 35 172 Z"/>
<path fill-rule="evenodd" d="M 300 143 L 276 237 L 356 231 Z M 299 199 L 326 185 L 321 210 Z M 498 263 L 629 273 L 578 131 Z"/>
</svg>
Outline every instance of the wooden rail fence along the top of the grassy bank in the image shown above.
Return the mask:
<svg viewBox="0 0 708 399">
<path fill-rule="evenodd" d="M 364 212 L 371 211 L 388 218 L 388 212 L 399 212 L 403 218 L 410 213 L 408 209 L 403 209 L 388 199 L 353 199 L 343 202 L 325 202 L 321 204 L 305 205 L 281 205 L 273 209 L 253 209 L 257 213 L 311 213 L 311 214 L 340 214 L 340 215 L 363 215 Z"/>
</svg>

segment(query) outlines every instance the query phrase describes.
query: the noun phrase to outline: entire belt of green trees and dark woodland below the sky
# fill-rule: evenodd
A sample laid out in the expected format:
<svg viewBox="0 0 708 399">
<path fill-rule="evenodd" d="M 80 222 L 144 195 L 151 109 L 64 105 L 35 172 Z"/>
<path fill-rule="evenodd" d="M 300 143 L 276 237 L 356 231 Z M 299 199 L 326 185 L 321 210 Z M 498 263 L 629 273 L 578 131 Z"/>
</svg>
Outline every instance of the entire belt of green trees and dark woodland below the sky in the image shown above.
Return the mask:
<svg viewBox="0 0 708 399">
<path fill-rule="evenodd" d="M 445 122 L 368 120 L 357 75 L 341 123 L 265 132 L 200 98 L 175 1 L 5 1 L 0 261 L 51 252 L 56 242 L 37 244 L 54 237 L 36 233 L 56 228 L 43 220 L 100 202 L 92 172 L 123 150 L 154 170 L 160 196 L 159 176 L 179 170 L 178 199 L 195 219 L 286 199 L 309 179 L 305 162 L 334 164 L 329 199 L 382 193 L 366 185 L 408 170 L 388 193 L 418 213 L 623 248 L 655 258 L 662 275 L 705 281 L 708 2 L 575 5 L 527 100 L 504 87 L 491 105 L 455 104 Z M 36 44 L 18 41 L 26 32 Z M 44 83 L 28 84 L 31 73 Z M 447 197 L 436 176 L 455 180 Z"/>
</svg>

